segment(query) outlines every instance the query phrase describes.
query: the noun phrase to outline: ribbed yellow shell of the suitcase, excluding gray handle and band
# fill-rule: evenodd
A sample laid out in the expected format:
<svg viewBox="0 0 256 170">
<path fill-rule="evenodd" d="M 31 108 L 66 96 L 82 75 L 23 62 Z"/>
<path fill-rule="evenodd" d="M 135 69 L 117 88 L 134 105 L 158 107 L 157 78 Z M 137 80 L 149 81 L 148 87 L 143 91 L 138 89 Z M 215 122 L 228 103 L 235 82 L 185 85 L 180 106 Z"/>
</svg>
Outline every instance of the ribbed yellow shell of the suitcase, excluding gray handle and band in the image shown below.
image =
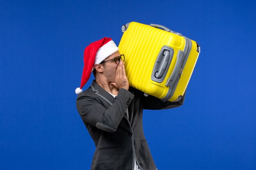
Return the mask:
<svg viewBox="0 0 256 170">
<path fill-rule="evenodd" d="M 125 55 L 124 63 L 130 86 L 159 99 L 166 97 L 169 89 L 166 86 L 167 79 L 173 72 L 178 51 L 184 51 L 185 44 L 185 38 L 180 35 L 169 33 L 146 24 L 130 22 L 118 46 L 120 53 Z M 157 83 L 151 79 L 151 75 L 159 51 L 163 46 L 172 47 L 174 54 L 164 81 Z M 191 53 L 183 69 L 175 93 L 169 99 L 171 102 L 175 101 L 179 95 L 184 95 L 199 55 L 196 49 L 197 45 L 192 41 Z"/>
</svg>

